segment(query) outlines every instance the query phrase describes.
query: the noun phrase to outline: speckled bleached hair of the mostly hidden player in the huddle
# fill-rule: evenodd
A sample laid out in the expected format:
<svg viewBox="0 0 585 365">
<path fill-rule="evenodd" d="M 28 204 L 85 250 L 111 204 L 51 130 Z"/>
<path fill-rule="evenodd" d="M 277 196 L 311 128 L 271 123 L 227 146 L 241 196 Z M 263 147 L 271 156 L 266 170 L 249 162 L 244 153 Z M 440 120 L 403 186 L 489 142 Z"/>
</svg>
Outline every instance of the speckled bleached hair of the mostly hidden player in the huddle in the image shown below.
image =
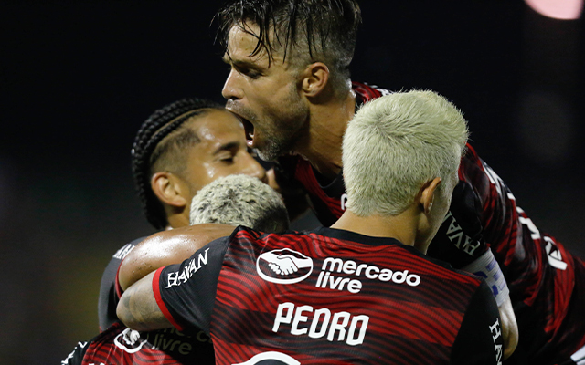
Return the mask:
<svg viewBox="0 0 585 365">
<path fill-rule="evenodd" d="M 248 175 L 229 175 L 204 186 L 191 201 L 189 221 L 245 225 L 262 232 L 289 227 L 281 195 Z"/>
</svg>

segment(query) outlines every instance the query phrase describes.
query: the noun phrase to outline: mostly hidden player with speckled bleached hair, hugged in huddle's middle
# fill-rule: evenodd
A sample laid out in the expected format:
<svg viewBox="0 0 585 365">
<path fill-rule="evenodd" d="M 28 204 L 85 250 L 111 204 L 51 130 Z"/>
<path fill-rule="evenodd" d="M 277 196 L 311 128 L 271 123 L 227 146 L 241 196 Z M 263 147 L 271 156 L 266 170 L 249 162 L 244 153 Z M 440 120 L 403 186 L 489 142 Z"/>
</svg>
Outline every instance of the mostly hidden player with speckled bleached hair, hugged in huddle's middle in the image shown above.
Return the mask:
<svg viewBox="0 0 585 365">
<path fill-rule="evenodd" d="M 191 222 L 243 224 L 263 232 L 282 231 L 289 224 L 282 197 L 267 184 L 248 175 L 219 177 L 213 183 L 207 184 L 193 197 Z M 232 230 L 233 227 L 230 226 L 229 229 Z M 210 232 L 212 230 L 208 228 L 207 233 Z M 148 253 L 140 252 L 137 248 L 133 256 L 141 258 L 143 254 L 147 257 L 156 255 L 159 260 L 149 264 L 163 266 L 181 262 L 183 258 L 176 260 L 176 255 L 185 248 L 180 247 L 177 250 L 172 243 L 155 245 L 149 248 Z M 192 251 L 186 256 L 191 253 Z M 130 276 L 136 275 L 140 275 L 140 270 L 127 273 L 131 280 Z M 207 335 L 201 336 L 197 333 L 194 337 L 185 334 L 177 336 L 175 329 L 138 332 L 115 322 L 89 342 L 80 342 L 62 364 L 214 364 L 212 352 L 210 358 L 201 353 L 198 356 L 186 356 L 194 348 L 194 338 L 204 340 L 211 348 Z"/>
</svg>

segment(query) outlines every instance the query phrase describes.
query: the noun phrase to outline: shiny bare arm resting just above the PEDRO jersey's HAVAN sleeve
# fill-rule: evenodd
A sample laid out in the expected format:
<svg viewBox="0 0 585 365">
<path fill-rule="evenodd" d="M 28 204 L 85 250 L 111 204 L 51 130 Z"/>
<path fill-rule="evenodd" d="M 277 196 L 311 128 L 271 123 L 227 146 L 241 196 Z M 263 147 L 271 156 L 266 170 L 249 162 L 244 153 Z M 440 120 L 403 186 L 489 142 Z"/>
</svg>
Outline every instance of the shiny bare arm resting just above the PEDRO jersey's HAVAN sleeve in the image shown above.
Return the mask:
<svg viewBox="0 0 585 365">
<path fill-rule="evenodd" d="M 120 287 L 126 290 L 159 267 L 183 262 L 216 238 L 231 235 L 234 228 L 227 224 L 197 224 L 151 235 L 122 261 L 118 272 Z"/>
</svg>

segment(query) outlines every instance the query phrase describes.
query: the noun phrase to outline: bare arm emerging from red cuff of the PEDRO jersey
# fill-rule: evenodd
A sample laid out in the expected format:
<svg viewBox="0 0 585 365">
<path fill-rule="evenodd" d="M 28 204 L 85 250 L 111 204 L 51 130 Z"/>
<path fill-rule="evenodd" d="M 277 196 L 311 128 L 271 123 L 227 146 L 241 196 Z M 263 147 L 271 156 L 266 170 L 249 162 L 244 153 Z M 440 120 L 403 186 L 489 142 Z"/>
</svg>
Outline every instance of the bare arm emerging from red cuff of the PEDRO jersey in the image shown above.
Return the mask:
<svg viewBox="0 0 585 365">
<path fill-rule="evenodd" d="M 152 287 L 154 273 L 128 287 L 120 298 L 116 314 L 128 328 L 154 330 L 173 327 L 158 308 Z"/>
</svg>

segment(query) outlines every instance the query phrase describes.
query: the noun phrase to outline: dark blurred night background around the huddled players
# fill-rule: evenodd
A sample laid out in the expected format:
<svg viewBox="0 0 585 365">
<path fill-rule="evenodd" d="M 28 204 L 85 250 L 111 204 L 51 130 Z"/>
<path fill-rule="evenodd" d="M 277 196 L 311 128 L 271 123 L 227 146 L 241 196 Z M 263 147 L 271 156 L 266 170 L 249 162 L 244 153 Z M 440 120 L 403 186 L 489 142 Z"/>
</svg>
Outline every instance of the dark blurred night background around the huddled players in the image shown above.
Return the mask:
<svg viewBox="0 0 585 365">
<path fill-rule="evenodd" d="M 3 363 L 58 363 L 98 333 L 103 268 L 154 232 L 133 191 L 135 132 L 176 99 L 222 100 L 218 5 L 0 1 Z M 452 99 L 540 230 L 585 257 L 582 20 L 520 0 L 361 5 L 353 78 Z"/>
</svg>

